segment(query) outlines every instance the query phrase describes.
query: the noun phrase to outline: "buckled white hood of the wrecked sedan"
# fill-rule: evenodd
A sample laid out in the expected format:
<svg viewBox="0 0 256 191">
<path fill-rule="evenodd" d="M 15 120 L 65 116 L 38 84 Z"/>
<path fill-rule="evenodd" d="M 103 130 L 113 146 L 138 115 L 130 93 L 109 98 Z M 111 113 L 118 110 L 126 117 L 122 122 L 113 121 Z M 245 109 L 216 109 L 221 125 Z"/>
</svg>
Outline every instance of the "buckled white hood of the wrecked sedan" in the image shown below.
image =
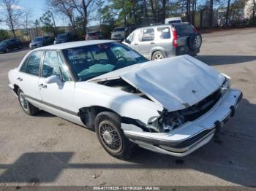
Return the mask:
<svg viewBox="0 0 256 191">
<path fill-rule="evenodd" d="M 211 66 L 189 55 L 182 55 L 135 64 L 90 81 L 115 78 L 121 78 L 138 88 L 169 112 L 197 104 L 214 93 L 225 79 Z"/>
</svg>

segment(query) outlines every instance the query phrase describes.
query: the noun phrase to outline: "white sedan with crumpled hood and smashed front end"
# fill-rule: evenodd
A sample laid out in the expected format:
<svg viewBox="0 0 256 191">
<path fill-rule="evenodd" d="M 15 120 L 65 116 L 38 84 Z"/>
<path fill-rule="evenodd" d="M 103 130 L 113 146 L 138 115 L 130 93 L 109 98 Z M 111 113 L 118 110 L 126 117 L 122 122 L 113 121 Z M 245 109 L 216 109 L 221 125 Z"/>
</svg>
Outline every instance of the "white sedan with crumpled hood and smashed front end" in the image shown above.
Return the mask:
<svg viewBox="0 0 256 191">
<path fill-rule="evenodd" d="M 42 109 L 94 129 L 119 158 L 135 144 L 189 155 L 233 117 L 242 98 L 230 77 L 189 55 L 148 61 L 110 40 L 40 47 L 8 77 L 26 114 Z"/>
</svg>

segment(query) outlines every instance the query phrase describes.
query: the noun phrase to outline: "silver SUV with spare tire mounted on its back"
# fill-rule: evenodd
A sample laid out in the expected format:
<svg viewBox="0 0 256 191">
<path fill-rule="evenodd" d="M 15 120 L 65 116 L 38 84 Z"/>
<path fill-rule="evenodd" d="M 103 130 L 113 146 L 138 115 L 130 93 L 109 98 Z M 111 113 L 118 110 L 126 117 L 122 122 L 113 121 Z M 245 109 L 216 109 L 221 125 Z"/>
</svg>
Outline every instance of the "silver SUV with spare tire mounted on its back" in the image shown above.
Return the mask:
<svg viewBox="0 0 256 191">
<path fill-rule="evenodd" d="M 150 60 L 176 55 L 196 55 L 202 36 L 189 23 L 138 28 L 123 42 Z"/>
</svg>

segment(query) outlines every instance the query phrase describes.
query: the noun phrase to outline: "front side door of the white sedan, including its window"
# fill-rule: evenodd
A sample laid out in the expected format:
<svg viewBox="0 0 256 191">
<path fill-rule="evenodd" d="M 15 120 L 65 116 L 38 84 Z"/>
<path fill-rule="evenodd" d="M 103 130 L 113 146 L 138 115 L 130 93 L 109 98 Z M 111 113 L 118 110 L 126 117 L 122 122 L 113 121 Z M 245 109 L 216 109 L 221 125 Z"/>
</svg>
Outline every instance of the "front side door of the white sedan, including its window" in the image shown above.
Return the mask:
<svg viewBox="0 0 256 191">
<path fill-rule="evenodd" d="M 77 122 L 78 111 L 76 111 L 74 104 L 72 104 L 75 82 L 72 80 L 60 52 L 56 50 L 45 51 L 41 71 L 39 93 L 41 94 L 45 110 L 72 122 Z M 58 77 L 56 79 L 59 80 L 48 83 L 48 77 L 53 75 L 56 75 Z"/>
</svg>

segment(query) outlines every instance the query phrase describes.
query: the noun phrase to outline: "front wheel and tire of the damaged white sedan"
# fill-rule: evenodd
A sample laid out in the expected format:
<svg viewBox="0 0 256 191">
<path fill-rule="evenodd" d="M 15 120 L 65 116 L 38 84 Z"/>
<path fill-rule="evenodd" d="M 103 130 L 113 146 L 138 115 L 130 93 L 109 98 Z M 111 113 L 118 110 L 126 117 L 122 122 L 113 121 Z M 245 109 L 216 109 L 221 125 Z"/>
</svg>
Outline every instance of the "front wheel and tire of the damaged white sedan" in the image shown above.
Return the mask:
<svg viewBox="0 0 256 191">
<path fill-rule="evenodd" d="M 100 112 L 95 118 L 95 131 L 102 147 L 113 157 L 127 160 L 135 144 L 124 136 L 121 118 L 113 112 Z"/>
</svg>

